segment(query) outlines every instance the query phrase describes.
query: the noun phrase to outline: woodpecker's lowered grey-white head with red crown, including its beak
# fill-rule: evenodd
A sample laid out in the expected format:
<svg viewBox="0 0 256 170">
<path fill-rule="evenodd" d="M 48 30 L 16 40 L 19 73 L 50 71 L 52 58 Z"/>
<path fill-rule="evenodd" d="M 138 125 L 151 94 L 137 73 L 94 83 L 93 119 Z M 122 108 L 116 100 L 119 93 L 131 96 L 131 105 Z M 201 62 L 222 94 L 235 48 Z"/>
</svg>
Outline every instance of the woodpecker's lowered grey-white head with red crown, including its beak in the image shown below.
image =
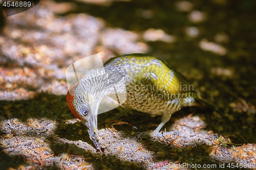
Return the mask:
<svg viewBox="0 0 256 170">
<path fill-rule="evenodd" d="M 106 74 L 103 69 L 89 70 L 73 82 L 67 92 L 69 109 L 88 128 L 90 138 L 100 152 L 97 134 L 98 108 L 101 100 L 110 94 L 111 86 L 117 83 L 117 77 Z"/>
</svg>

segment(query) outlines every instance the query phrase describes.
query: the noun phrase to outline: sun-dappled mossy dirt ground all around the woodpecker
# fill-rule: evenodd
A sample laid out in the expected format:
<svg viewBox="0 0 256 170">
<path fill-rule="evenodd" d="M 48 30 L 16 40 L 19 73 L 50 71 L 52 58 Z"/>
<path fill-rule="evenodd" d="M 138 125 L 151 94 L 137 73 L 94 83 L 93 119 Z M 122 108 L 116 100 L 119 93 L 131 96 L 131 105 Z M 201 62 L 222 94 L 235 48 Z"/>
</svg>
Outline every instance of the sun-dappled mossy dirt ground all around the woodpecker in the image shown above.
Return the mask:
<svg viewBox="0 0 256 170">
<path fill-rule="evenodd" d="M 41 1 L 2 18 L 0 169 L 256 169 L 256 5 L 184 2 Z M 138 134 L 161 117 L 99 114 L 100 154 L 68 108 L 65 76 L 99 52 L 162 58 L 214 109 L 183 108 L 154 138 Z"/>
</svg>

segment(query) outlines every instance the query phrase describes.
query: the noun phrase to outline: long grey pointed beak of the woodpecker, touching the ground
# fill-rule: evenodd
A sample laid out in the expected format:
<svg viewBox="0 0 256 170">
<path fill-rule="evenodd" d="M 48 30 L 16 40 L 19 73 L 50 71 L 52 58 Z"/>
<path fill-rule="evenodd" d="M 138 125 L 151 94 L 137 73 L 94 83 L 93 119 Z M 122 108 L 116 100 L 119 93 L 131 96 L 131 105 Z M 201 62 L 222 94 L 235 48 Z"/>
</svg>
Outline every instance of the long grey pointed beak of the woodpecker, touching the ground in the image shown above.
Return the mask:
<svg viewBox="0 0 256 170">
<path fill-rule="evenodd" d="M 102 154 L 102 151 L 100 150 L 100 145 L 98 143 L 98 132 L 97 132 L 97 115 L 96 116 L 90 116 L 90 121 L 85 123 L 85 125 L 88 128 L 88 133 L 90 135 L 91 140 L 93 141 L 95 147 L 99 150 L 99 152 Z"/>
</svg>

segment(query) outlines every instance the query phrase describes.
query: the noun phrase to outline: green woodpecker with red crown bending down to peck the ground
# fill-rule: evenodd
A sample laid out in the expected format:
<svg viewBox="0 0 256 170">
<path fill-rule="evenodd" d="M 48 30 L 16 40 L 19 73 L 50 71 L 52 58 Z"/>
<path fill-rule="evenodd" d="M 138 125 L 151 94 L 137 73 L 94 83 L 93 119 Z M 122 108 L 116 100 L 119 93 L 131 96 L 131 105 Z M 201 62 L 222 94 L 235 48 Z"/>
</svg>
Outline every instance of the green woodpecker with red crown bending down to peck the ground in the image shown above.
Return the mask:
<svg viewBox="0 0 256 170">
<path fill-rule="evenodd" d="M 122 88 L 123 84 L 125 88 Z M 122 95 L 117 96 L 117 93 Z M 83 72 L 69 87 L 66 97 L 69 109 L 87 127 L 100 153 L 97 114 L 105 96 L 126 99 L 121 104 L 125 108 L 149 113 L 153 117 L 162 116 L 152 135 L 159 133 L 172 114 L 181 108 L 204 105 L 194 86 L 166 61 L 146 54 L 110 58 L 102 68 Z"/>
</svg>

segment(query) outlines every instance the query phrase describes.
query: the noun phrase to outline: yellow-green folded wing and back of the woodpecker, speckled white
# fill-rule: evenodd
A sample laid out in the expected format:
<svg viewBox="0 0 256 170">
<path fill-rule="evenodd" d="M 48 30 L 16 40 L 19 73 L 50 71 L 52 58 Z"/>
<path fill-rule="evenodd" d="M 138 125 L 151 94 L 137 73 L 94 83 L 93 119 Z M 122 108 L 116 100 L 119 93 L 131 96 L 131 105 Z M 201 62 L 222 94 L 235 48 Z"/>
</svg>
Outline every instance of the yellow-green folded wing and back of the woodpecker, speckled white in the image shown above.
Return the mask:
<svg viewBox="0 0 256 170">
<path fill-rule="evenodd" d="M 112 63 L 111 63 L 112 62 Z M 192 91 L 187 80 L 163 60 L 145 54 L 129 54 L 114 57 L 104 63 L 120 65 L 126 69 L 137 85 L 151 95 L 171 95 Z M 127 66 L 129 65 L 129 67 Z"/>
</svg>

